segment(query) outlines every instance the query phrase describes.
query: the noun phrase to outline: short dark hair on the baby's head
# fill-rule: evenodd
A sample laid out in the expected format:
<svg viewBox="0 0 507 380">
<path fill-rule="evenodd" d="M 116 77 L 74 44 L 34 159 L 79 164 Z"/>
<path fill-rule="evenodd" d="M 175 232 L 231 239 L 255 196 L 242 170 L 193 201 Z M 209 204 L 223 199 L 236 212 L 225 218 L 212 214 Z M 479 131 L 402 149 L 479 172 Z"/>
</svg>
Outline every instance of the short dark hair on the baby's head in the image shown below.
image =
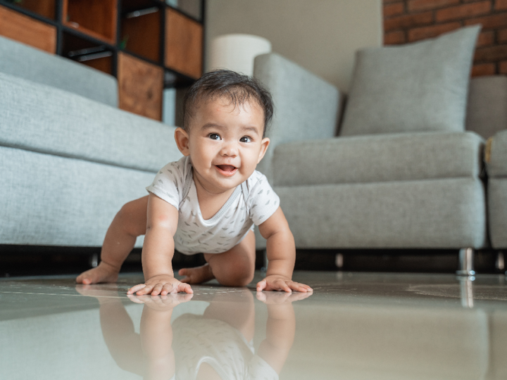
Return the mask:
<svg viewBox="0 0 507 380">
<path fill-rule="evenodd" d="M 194 117 L 200 101 L 223 97 L 229 99 L 234 108 L 251 100 L 256 101 L 264 111 L 263 137 L 265 136 L 266 128 L 273 118 L 271 94 L 255 78 L 231 70 L 206 72 L 187 90 L 183 98 L 183 129 L 188 130 L 190 119 Z"/>
</svg>

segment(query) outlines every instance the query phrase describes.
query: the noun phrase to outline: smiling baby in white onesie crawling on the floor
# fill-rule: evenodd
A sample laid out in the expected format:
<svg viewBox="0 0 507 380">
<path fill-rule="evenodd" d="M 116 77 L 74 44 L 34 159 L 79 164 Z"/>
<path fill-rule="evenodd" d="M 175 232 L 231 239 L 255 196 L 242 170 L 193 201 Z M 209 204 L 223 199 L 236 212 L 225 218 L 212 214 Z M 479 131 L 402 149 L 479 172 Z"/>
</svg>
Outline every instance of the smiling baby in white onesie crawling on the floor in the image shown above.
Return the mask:
<svg viewBox="0 0 507 380">
<path fill-rule="evenodd" d="M 115 282 L 137 236 L 145 234 L 145 282 L 129 294 L 193 293 L 189 284 L 211 279 L 246 286 L 255 270 L 256 224 L 268 253 L 257 291 L 312 291 L 292 281 L 294 237 L 280 199 L 256 171 L 270 144 L 269 92 L 236 72 L 208 72 L 185 94 L 183 110 L 175 140 L 184 157 L 158 172 L 146 188 L 149 196 L 123 206 L 108 228 L 99 266 L 80 274 L 77 283 Z M 178 281 L 171 264 L 175 249 L 204 253 L 206 264 L 180 270 L 184 278 Z"/>
</svg>

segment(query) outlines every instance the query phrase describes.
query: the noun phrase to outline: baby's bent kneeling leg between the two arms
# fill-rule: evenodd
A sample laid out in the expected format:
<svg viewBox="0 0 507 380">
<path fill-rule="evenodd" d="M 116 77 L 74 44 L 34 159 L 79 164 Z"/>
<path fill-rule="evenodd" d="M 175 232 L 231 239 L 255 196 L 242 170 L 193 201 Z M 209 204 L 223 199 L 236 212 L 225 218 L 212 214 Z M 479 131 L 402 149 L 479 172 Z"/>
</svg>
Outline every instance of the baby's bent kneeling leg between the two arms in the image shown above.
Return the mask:
<svg viewBox="0 0 507 380">
<path fill-rule="evenodd" d="M 246 286 L 255 272 L 255 234 L 249 232 L 237 246 L 224 253 L 204 253 L 207 263 L 202 267 L 184 268 L 182 282 L 201 284 L 217 279 L 225 286 Z"/>
</svg>

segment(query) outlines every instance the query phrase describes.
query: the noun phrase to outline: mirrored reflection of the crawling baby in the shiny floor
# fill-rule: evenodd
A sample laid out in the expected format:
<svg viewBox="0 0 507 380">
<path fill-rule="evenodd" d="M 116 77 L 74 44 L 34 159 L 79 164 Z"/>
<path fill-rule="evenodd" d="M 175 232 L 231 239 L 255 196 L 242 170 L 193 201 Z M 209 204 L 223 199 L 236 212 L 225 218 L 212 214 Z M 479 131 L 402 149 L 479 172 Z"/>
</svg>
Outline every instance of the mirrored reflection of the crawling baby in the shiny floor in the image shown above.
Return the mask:
<svg viewBox="0 0 507 380">
<path fill-rule="evenodd" d="M 257 293 L 257 298 L 268 307 L 266 338 L 261 342 L 257 353 L 253 348 L 254 296 L 248 289 L 217 293 L 204 315 L 181 315 L 173 321 L 172 327 L 170 319 L 173 308 L 192 298 L 192 295 L 131 296 L 132 301 L 144 303 L 138 344 L 142 346 L 142 372 L 145 379 L 278 379 L 294 341 L 296 322 L 292 301 L 310 295 L 311 293 Z M 194 296 L 193 299 L 197 298 L 199 296 Z M 115 302 L 114 298 L 110 300 Z M 120 364 L 125 363 L 125 360 L 121 360 L 119 353 L 113 351 L 121 345 L 113 343 L 111 332 L 122 334 L 118 327 L 128 326 L 124 333 L 131 336 L 130 343 L 134 339 L 130 327 L 132 321 L 120 300 L 116 303 L 114 315 L 108 317 L 102 317 L 105 305 L 101 305 L 101 327 L 111 355 Z M 111 302 L 106 307 L 108 312 L 113 312 Z M 128 321 L 123 320 L 125 318 Z M 115 341 L 118 338 L 123 340 L 117 336 Z M 139 353 L 139 348 L 130 349 Z M 125 350 L 125 346 L 120 350 Z M 128 356 L 130 360 L 134 356 L 142 360 L 139 355 Z M 134 371 L 132 364 L 130 362 L 130 368 L 122 367 L 139 374 L 139 365 L 142 363 Z"/>
</svg>

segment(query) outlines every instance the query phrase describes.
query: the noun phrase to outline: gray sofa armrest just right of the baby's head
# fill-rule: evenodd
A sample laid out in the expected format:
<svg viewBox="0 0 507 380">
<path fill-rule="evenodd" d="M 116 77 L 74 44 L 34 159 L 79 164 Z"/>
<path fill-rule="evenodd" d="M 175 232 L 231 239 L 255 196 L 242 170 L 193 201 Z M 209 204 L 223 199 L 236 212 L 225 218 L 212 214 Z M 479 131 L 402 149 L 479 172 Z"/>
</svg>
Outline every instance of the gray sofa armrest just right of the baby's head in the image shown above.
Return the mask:
<svg viewBox="0 0 507 380">
<path fill-rule="evenodd" d="M 332 84 L 275 53 L 255 58 L 253 76 L 268 88 L 275 103 L 267 132 L 270 148 L 258 165 L 272 180 L 271 162 L 278 144 L 336 135 L 341 94 Z"/>
</svg>

